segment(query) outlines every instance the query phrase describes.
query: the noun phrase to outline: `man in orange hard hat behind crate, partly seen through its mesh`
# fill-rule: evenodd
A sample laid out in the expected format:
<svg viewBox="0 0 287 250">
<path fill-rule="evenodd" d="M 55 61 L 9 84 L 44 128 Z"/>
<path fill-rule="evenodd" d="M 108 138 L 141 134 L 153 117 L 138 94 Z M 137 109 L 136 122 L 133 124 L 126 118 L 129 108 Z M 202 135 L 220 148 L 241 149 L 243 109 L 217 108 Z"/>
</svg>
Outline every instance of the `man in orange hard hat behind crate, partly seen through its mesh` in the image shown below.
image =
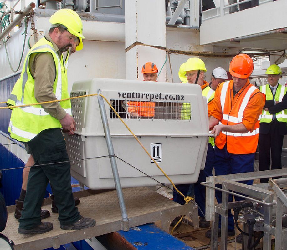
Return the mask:
<svg viewBox="0 0 287 250">
<path fill-rule="evenodd" d="M 141 73 L 144 81 L 156 82 L 158 69 L 152 62 L 147 62 L 142 66 Z M 127 113 L 134 118 L 151 118 L 155 113 L 154 102 L 127 102 Z"/>
</svg>

